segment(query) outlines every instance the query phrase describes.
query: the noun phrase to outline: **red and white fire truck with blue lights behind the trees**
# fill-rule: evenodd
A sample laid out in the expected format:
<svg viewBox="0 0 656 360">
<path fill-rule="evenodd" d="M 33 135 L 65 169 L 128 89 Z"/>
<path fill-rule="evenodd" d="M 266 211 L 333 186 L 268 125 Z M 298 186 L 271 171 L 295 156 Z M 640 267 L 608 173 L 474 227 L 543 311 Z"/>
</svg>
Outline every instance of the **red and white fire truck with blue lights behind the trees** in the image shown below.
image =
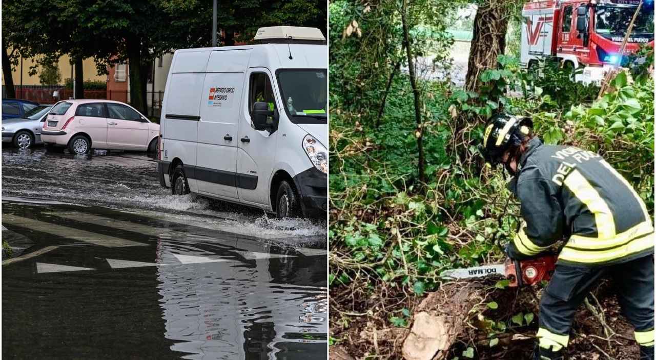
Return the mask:
<svg viewBox="0 0 656 360">
<path fill-rule="evenodd" d="M 539 0 L 522 10 L 520 63 L 533 67 L 540 59 L 556 57 L 562 66 L 579 68 L 576 80 L 599 83 L 615 64 L 640 0 Z M 653 0 L 643 0 L 625 46 L 624 55 L 640 44 L 654 45 Z"/>
</svg>

